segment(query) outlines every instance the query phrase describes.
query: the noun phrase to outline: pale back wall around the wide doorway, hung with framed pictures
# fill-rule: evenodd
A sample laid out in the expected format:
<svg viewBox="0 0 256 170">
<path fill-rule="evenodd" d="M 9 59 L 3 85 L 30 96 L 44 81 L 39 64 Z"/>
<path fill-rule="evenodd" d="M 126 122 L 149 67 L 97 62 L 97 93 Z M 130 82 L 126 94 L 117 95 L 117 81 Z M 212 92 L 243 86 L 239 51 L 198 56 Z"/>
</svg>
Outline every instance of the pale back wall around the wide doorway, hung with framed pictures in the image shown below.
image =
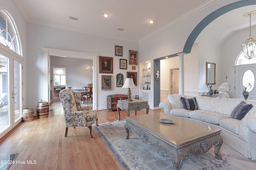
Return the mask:
<svg viewBox="0 0 256 170">
<path fill-rule="evenodd" d="M 122 89 L 122 87 L 116 87 L 116 75 L 118 73 L 123 74 L 125 80 L 127 75 L 126 72 L 138 72 L 138 66 L 136 66 L 136 70 L 132 70 L 132 65 L 129 64 L 127 65 L 127 70 L 119 68 L 119 59 L 127 59 L 127 61 L 129 61 L 129 50 L 138 51 L 138 44 L 136 43 L 76 33 L 72 31 L 46 27 L 43 25 L 37 25 L 33 23 L 27 23 L 27 33 L 27 46 L 30 49 L 28 51 L 27 63 L 29 65 L 27 72 L 28 82 L 35 82 L 36 84 L 38 84 L 38 86 L 28 84 L 27 87 L 30 90 L 30 93 L 28 93 L 28 103 L 31 107 L 36 107 L 38 101 L 40 101 L 40 99 L 44 96 L 43 92 L 38 90 L 42 88 L 41 84 L 43 84 L 44 81 L 44 65 L 42 64 L 44 57 L 42 47 L 61 49 L 67 51 L 93 53 L 99 54 L 99 56 L 104 57 L 113 57 L 113 74 L 97 74 L 98 84 L 96 88 L 98 91 L 98 109 L 106 109 L 108 95 L 127 94 L 127 89 Z M 115 45 L 123 46 L 123 57 L 114 56 Z M 76 62 L 73 63 L 76 64 Z M 96 69 L 97 72 L 99 72 L 98 68 Z M 112 90 L 101 89 L 102 75 L 112 75 Z M 78 79 L 78 81 L 80 80 Z M 138 88 L 132 90 L 132 95 L 138 95 Z"/>
</svg>

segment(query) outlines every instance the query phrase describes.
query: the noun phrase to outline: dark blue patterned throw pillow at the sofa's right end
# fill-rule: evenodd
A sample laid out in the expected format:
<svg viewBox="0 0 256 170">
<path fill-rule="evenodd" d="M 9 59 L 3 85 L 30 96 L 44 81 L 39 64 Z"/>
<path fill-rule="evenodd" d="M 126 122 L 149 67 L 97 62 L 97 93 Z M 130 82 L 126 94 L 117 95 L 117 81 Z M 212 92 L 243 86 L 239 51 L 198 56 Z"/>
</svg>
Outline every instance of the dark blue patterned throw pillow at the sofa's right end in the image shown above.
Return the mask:
<svg viewBox="0 0 256 170">
<path fill-rule="evenodd" d="M 241 120 L 244 118 L 246 113 L 252 108 L 252 104 L 246 104 L 244 101 L 242 101 L 240 104 L 238 104 L 234 110 L 231 113 L 231 117 L 233 119 Z"/>
</svg>

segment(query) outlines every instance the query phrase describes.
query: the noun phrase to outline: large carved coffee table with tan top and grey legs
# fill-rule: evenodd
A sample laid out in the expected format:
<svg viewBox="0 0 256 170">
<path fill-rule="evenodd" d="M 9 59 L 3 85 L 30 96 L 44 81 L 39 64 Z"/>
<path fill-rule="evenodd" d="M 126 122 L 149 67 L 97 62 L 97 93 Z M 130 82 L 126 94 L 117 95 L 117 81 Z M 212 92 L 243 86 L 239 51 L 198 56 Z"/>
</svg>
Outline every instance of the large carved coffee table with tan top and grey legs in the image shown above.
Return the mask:
<svg viewBox="0 0 256 170">
<path fill-rule="evenodd" d="M 215 157 L 222 159 L 222 129 L 160 112 L 125 119 L 126 139 L 129 139 L 129 130 L 132 130 L 144 143 L 168 156 L 172 160 L 174 170 L 180 168 L 182 160 L 189 154 L 204 154 L 213 145 Z M 162 123 L 160 119 L 170 119 L 175 123 Z"/>
</svg>

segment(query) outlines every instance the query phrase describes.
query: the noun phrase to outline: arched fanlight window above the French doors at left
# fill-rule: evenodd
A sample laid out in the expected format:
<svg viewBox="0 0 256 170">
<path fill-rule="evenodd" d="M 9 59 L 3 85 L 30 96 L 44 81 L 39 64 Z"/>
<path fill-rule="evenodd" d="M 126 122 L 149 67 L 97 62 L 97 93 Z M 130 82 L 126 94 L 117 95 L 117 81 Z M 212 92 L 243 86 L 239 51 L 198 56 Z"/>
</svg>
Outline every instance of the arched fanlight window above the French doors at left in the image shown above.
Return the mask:
<svg viewBox="0 0 256 170">
<path fill-rule="evenodd" d="M 20 38 L 15 23 L 4 10 L 0 10 L 0 43 L 22 56 Z"/>
</svg>

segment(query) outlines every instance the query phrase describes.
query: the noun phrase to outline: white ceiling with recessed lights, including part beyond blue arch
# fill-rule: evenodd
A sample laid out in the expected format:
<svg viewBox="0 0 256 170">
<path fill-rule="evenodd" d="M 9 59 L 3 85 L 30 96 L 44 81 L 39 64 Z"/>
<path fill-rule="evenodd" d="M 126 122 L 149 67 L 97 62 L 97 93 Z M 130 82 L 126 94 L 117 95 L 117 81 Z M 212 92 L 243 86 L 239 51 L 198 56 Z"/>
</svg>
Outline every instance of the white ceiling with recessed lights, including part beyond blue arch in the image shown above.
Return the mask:
<svg viewBox="0 0 256 170">
<path fill-rule="evenodd" d="M 13 1 L 27 22 L 138 43 L 218 0 Z M 230 32 L 244 29 L 248 27 L 249 20 L 242 14 L 252 10 L 256 7 L 233 10 L 219 17 L 216 24 Z M 104 12 L 109 14 L 108 18 L 103 17 Z M 70 16 L 78 18 L 78 21 L 70 20 Z M 150 24 L 150 19 L 155 22 Z M 124 31 L 118 31 L 118 28 Z"/>
</svg>

